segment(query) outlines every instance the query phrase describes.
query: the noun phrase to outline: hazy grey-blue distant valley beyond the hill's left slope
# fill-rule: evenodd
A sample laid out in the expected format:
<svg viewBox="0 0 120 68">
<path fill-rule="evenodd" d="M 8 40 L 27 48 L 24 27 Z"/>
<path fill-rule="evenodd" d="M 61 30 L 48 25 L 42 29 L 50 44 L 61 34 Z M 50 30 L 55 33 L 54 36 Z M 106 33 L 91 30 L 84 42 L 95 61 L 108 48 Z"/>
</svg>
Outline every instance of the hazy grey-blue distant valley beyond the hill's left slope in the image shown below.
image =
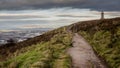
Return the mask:
<svg viewBox="0 0 120 68">
<path fill-rule="evenodd" d="M 29 29 L 29 30 L 18 30 L 18 31 L 8 31 L 0 32 L 0 45 L 8 43 L 8 40 L 12 39 L 14 42 L 21 42 L 35 36 L 39 36 L 46 31 L 52 30 L 50 28 L 44 29 Z"/>
</svg>

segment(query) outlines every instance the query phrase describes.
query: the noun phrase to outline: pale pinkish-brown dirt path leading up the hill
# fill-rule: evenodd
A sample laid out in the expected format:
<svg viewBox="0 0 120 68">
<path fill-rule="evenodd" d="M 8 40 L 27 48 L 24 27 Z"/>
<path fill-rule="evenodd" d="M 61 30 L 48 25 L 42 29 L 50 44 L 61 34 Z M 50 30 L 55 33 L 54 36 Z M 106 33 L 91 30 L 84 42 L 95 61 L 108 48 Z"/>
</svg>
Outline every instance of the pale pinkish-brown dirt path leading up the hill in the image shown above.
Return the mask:
<svg viewBox="0 0 120 68">
<path fill-rule="evenodd" d="M 107 68 L 82 36 L 75 33 L 72 42 L 73 47 L 68 49 L 72 58 L 72 68 Z"/>
</svg>

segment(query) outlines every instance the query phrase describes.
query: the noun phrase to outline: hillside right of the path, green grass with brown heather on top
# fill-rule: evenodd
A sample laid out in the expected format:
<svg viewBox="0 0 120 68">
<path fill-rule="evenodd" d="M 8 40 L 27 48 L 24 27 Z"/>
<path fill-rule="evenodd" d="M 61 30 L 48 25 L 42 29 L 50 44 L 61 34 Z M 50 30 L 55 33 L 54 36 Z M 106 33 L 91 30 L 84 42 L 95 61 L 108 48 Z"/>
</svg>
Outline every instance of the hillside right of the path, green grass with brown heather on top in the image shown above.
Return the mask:
<svg viewBox="0 0 120 68">
<path fill-rule="evenodd" d="M 120 67 L 120 18 L 86 21 L 70 27 L 82 35 L 111 68 Z"/>
</svg>

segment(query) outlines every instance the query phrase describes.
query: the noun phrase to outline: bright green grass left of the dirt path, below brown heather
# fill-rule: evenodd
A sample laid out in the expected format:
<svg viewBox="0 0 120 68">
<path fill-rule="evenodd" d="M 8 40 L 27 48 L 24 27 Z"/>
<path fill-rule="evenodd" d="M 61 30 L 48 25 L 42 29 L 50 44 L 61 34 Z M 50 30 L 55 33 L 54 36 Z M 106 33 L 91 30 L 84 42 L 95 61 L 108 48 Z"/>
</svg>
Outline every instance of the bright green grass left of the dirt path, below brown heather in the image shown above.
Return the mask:
<svg viewBox="0 0 120 68">
<path fill-rule="evenodd" d="M 65 29 L 63 30 L 65 31 Z M 2 68 L 70 68 L 71 61 L 66 49 L 71 46 L 71 35 L 60 32 L 50 41 L 39 42 L 11 54 Z"/>
</svg>

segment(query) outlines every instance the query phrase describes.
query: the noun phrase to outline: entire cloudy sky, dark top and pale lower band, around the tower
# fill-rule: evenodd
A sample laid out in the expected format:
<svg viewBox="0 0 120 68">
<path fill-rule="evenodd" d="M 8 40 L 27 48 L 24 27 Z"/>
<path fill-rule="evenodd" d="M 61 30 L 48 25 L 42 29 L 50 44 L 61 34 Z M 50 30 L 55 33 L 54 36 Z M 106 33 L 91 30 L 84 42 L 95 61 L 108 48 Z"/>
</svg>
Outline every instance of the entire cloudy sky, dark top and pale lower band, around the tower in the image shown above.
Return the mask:
<svg viewBox="0 0 120 68">
<path fill-rule="evenodd" d="M 120 0 L 0 0 L 0 32 L 120 17 Z"/>
</svg>

